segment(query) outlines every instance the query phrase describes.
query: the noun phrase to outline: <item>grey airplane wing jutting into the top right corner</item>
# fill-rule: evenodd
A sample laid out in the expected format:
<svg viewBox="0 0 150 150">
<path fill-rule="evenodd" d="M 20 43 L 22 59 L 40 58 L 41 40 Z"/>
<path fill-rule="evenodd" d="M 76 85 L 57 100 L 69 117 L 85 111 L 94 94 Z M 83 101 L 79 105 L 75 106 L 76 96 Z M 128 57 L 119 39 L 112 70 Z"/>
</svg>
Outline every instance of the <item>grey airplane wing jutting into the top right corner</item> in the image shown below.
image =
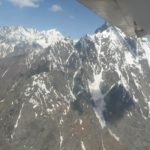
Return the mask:
<svg viewBox="0 0 150 150">
<path fill-rule="evenodd" d="M 129 36 L 150 33 L 150 0 L 78 0 Z"/>
</svg>

